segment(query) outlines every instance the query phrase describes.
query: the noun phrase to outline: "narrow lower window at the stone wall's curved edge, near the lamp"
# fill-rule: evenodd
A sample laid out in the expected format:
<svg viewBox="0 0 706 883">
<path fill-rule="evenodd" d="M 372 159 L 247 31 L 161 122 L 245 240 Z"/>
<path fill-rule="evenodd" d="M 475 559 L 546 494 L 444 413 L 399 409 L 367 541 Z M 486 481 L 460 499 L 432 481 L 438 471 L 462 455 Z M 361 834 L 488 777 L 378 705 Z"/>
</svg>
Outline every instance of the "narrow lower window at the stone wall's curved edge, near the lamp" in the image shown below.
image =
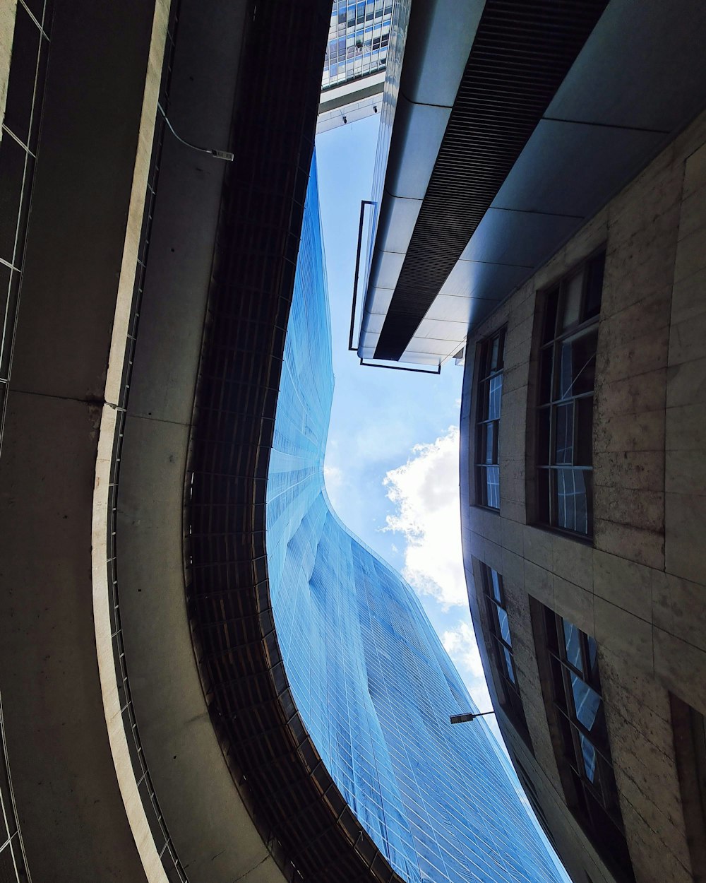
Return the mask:
<svg viewBox="0 0 706 883">
<path fill-rule="evenodd" d="M 522 736 L 531 750 L 530 732 L 522 707 L 522 697 L 517 686 L 517 671 L 514 668 L 513 641 L 510 635 L 510 623 L 505 608 L 505 589 L 502 577 L 497 570 L 492 570 L 481 562 L 483 573 L 483 593 L 488 618 L 491 623 L 493 655 L 495 666 L 501 679 L 500 705 L 507 714 L 514 728 Z"/>
</svg>

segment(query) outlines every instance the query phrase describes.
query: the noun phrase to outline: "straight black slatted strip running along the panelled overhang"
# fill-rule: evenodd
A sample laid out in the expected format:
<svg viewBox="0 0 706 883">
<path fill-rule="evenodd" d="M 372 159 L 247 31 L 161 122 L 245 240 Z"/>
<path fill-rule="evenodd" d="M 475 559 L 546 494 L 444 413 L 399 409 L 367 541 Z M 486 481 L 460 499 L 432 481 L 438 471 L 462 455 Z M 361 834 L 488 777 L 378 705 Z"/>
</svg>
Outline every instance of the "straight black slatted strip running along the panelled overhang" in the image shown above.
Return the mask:
<svg viewBox="0 0 706 883">
<path fill-rule="evenodd" d="M 606 5 L 487 0 L 375 358 L 402 357 Z"/>
</svg>

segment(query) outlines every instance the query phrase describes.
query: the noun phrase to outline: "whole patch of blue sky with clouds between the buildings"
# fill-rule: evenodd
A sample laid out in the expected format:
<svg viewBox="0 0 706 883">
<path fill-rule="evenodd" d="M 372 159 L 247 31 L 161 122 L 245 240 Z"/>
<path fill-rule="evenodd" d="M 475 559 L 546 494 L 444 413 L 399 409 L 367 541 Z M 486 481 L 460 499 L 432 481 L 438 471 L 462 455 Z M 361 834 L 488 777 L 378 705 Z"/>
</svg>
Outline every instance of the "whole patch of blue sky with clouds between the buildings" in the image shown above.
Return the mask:
<svg viewBox="0 0 706 883">
<path fill-rule="evenodd" d="M 458 501 L 462 367 L 363 367 L 348 351 L 360 200 L 370 199 L 378 117 L 317 140 L 335 393 L 327 490 L 343 522 L 409 579 L 481 710 L 491 707 L 463 580 Z M 492 724 L 492 719 L 488 721 Z"/>
</svg>

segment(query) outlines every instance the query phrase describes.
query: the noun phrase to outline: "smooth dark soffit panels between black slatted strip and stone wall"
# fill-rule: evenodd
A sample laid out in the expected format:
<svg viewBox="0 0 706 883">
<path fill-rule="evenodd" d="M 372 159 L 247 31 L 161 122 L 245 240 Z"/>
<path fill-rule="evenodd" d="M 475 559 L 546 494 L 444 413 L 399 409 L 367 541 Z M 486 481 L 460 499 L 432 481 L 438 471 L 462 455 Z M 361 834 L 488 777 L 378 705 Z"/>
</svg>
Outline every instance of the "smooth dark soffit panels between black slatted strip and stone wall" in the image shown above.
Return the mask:
<svg viewBox="0 0 706 883">
<path fill-rule="evenodd" d="M 702 110 L 706 3 L 683 0 L 678 12 L 663 0 L 612 0 L 608 5 L 462 260 L 439 287 L 441 313 L 447 301 L 440 298 L 448 294 L 469 300 L 479 295 L 490 300 L 467 306 L 466 313 L 472 325 L 482 321 L 492 301 L 507 297 L 528 278 Z M 439 222 L 442 214 L 439 207 Z M 384 240 L 378 242 L 385 247 Z M 479 268 L 477 261 L 491 263 Z M 436 315 L 437 300 L 427 318 Z M 414 350 L 412 324 L 407 314 L 405 358 Z"/>
</svg>

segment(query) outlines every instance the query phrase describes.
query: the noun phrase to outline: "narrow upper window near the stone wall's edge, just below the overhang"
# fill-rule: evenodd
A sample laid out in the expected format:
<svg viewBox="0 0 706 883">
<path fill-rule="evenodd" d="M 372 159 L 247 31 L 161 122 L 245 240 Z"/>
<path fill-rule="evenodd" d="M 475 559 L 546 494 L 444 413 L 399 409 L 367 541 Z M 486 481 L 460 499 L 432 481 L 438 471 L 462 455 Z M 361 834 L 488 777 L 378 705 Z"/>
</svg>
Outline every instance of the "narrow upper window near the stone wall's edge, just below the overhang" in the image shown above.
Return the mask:
<svg viewBox="0 0 706 883">
<path fill-rule="evenodd" d="M 500 508 L 498 440 L 505 328 L 481 344 L 478 367 L 478 421 L 476 434 L 476 500 Z"/>
</svg>

